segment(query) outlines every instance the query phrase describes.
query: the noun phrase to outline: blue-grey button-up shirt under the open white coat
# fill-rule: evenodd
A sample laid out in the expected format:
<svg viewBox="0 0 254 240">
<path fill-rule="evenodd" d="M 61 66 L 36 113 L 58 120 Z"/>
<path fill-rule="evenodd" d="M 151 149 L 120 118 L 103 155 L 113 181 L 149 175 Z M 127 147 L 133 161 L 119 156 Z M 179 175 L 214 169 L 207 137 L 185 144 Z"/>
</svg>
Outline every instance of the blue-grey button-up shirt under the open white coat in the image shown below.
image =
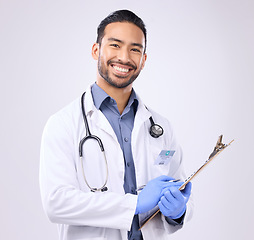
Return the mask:
<svg viewBox="0 0 254 240">
<path fill-rule="evenodd" d="M 130 95 L 127 106 L 120 114 L 116 101 L 103 91 L 96 83 L 92 85 L 92 96 L 94 105 L 108 119 L 114 129 L 118 142 L 123 151 L 125 161 L 124 190 L 125 193 L 137 194 L 136 175 L 133 156 L 131 151 L 131 133 L 134 125 L 134 118 L 138 107 L 138 99 L 134 90 Z M 138 231 L 139 220 L 135 215 L 132 222 L 131 231 L 128 232 L 128 239 L 142 240 L 142 233 Z"/>
</svg>

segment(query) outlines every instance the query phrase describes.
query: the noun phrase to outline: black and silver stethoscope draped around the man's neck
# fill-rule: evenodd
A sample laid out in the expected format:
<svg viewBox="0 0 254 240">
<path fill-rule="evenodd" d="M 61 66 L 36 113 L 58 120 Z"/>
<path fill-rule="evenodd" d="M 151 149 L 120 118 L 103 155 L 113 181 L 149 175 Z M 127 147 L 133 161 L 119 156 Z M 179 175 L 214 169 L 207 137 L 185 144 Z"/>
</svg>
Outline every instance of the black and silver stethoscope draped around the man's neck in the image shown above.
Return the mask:
<svg viewBox="0 0 254 240">
<path fill-rule="evenodd" d="M 89 125 L 88 125 L 88 122 L 87 122 L 85 106 L 84 106 L 85 93 L 86 92 L 84 92 L 81 96 L 81 110 L 82 110 L 82 115 L 83 115 L 83 119 L 84 119 L 84 123 L 85 123 L 85 127 L 86 127 L 86 136 L 83 139 L 81 139 L 81 141 L 79 143 L 79 157 L 80 157 L 80 161 L 81 161 L 82 173 L 83 173 L 83 177 L 84 177 L 86 185 L 89 187 L 89 189 L 92 192 L 99 192 L 99 191 L 105 192 L 105 191 L 108 190 L 108 188 L 106 187 L 106 184 L 107 184 L 107 181 L 108 181 L 108 162 L 107 162 L 104 146 L 103 146 L 103 143 L 102 143 L 101 139 L 98 136 L 91 134 L 91 131 L 90 131 L 90 128 L 89 128 Z M 160 125 L 154 123 L 152 117 L 150 117 L 149 120 L 150 120 L 150 123 L 151 123 L 151 127 L 149 129 L 150 135 L 154 138 L 160 137 L 163 134 L 163 128 Z M 85 175 L 85 171 L 84 171 L 84 166 L 83 166 L 83 145 L 88 139 L 93 139 L 93 140 L 96 140 L 98 142 L 98 144 L 100 146 L 100 149 L 101 149 L 101 152 L 103 153 L 104 160 L 105 160 L 106 178 L 105 178 L 105 181 L 104 181 L 103 185 L 99 188 L 94 188 L 94 187 L 90 186 L 90 184 L 88 183 L 88 181 L 86 179 L 86 175 Z"/>
</svg>

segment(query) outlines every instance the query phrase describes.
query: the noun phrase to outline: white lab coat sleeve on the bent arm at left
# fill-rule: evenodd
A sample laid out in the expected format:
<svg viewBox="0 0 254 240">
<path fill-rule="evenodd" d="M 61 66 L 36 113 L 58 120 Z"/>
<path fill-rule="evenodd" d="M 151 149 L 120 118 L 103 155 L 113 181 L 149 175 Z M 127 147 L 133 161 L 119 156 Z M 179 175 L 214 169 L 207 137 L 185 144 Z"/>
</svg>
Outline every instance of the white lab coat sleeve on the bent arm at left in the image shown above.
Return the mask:
<svg viewBox="0 0 254 240">
<path fill-rule="evenodd" d="M 54 223 L 129 230 L 137 196 L 79 189 L 73 130 L 54 115 L 43 132 L 40 188 L 46 214 Z"/>
</svg>

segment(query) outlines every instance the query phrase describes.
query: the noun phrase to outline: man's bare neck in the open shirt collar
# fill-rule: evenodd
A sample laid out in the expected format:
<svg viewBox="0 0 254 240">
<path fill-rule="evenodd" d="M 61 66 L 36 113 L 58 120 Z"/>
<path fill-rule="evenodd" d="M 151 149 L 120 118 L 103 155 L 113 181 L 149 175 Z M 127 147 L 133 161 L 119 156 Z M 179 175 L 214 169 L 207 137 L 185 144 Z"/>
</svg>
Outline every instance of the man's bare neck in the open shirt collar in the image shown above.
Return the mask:
<svg viewBox="0 0 254 240">
<path fill-rule="evenodd" d="M 96 84 L 116 101 L 118 111 L 120 112 L 120 114 L 122 114 L 130 98 L 131 91 L 132 91 L 132 84 L 130 84 L 129 86 L 125 88 L 113 87 L 109 83 L 107 83 L 105 80 L 103 81 L 97 80 Z"/>
</svg>

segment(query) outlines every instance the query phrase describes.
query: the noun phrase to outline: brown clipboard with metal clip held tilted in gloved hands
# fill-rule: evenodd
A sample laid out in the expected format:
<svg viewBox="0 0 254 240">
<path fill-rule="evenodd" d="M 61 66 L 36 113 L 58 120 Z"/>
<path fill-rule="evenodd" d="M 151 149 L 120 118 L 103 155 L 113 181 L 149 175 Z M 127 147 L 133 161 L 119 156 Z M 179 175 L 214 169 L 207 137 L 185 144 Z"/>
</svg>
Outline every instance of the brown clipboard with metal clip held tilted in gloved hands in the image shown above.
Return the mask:
<svg viewBox="0 0 254 240">
<path fill-rule="evenodd" d="M 208 163 L 210 163 L 215 157 L 217 157 L 224 149 L 226 149 L 233 141 L 234 139 L 228 143 L 228 144 L 224 144 L 222 143 L 222 137 L 223 135 L 219 136 L 219 139 L 214 147 L 213 152 L 210 154 L 208 160 L 206 160 L 194 173 L 192 173 L 188 178 L 186 178 L 184 180 L 184 183 L 179 187 L 179 190 L 183 190 L 186 186 L 186 184 L 188 182 L 190 182 L 195 176 L 197 176 L 197 174 L 204 169 L 205 166 L 207 166 Z M 159 207 L 157 206 L 154 211 L 147 216 L 142 222 L 141 222 L 141 227 L 139 228 L 139 230 L 141 228 L 143 228 L 151 219 L 153 219 L 158 213 L 160 212 Z"/>
</svg>

